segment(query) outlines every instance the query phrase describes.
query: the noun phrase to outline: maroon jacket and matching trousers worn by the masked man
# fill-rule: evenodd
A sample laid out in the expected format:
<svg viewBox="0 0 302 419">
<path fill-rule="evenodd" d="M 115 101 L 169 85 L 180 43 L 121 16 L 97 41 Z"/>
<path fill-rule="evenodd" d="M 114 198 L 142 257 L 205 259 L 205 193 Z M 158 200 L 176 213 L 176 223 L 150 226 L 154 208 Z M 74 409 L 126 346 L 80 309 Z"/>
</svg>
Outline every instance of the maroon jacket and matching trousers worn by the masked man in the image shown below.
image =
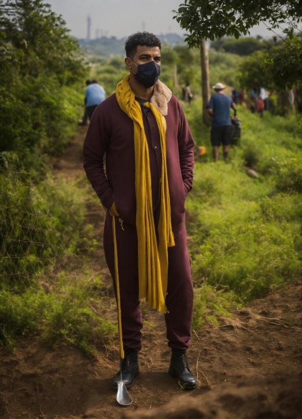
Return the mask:
<svg viewBox="0 0 302 419">
<path fill-rule="evenodd" d="M 185 350 L 191 336 L 193 285 L 186 247 L 184 201 L 186 194 L 192 189 L 194 141 L 182 107 L 173 95 L 168 103 L 168 115 L 165 118 L 171 222 L 175 239 L 175 247 L 168 248 L 166 305 L 169 313 L 165 315 L 165 320 L 169 346 Z M 160 136 L 155 117 L 150 110 L 143 112 L 143 122 L 149 147 L 154 200 L 159 193 L 158 180 L 161 173 Z M 117 223 L 123 344 L 125 351 L 139 351 L 142 320 L 138 299 L 134 128 L 133 121 L 121 110 L 115 94 L 100 103 L 95 110 L 89 124 L 83 154 L 87 177 L 102 204 L 109 209 L 115 201 L 123 220 L 124 230 Z M 153 208 L 156 215 L 157 205 L 153 204 Z M 104 251 L 115 287 L 111 220 L 107 211 Z"/>
</svg>

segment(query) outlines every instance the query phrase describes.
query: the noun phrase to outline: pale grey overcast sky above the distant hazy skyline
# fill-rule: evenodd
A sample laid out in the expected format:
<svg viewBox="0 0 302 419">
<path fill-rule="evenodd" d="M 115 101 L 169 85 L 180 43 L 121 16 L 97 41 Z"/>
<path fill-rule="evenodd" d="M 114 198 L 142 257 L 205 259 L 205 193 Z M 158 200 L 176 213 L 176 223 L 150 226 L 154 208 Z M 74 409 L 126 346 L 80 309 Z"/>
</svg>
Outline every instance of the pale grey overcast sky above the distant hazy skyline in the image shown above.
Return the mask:
<svg viewBox="0 0 302 419">
<path fill-rule="evenodd" d="M 156 34 L 184 33 L 172 10 L 176 10 L 181 0 L 46 0 L 52 10 L 61 14 L 66 21 L 71 35 L 77 38 L 87 37 L 87 16 L 91 17 L 91 39 L 99 36 L 123 38 L 138 30 L 147 30 Z M 264 24 L 251 30 L 271 38 L 273 33 Z"/>
</svg>

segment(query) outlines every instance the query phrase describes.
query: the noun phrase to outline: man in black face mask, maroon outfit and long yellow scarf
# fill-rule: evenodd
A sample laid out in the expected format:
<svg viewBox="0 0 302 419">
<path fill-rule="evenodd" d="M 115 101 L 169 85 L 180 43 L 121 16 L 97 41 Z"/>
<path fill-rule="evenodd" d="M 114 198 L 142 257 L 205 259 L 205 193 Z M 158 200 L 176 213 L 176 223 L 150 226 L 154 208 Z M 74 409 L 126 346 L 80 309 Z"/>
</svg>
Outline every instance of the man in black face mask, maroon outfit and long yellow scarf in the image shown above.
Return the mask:
<svg viewBox="0 0 302 419">
<path fill-rule="evenodd" d="M 179 101 L 158 80 L 160 40 L 137 32 L 125 49 L 130 75 L 95 110 L 83 150 L 87 177 L 107 209 L 104 251 L 116 297 L 117 284 L 120 290 L 123 382 L 130 388 L 139 373 L 139 302 L 145 298 L 165 312 L 169 374 L 182 388 L 194 389 L 186 356 L 193 284 L 184 223 L 194 140 Z M 120 371 L 114 389 L 119 380 Z"/>
</svg>

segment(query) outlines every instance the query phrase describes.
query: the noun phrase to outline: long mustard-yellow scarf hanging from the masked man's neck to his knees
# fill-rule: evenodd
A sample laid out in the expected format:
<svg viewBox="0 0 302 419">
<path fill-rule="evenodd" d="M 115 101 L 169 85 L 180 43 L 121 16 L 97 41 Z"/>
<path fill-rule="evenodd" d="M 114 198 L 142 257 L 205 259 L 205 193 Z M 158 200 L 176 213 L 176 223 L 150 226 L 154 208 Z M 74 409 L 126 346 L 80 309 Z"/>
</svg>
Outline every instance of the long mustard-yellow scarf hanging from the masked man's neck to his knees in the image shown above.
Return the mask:
<svg viewBox="0 0 302 419">
<path fill-rule="evenodd" d="M 144 104 L 144 106 L 152 111 L 156 118 L 162 151 L 161 209 L 158 224 L 159 243 L 157 243 L 152 209 L 148 144 L 143 127 L 141 107 L 135 100 L 134 93 L 129 85 L 129 79 L 130 76 L 128 75 L 118 84 L 116 97 L 121 109 L 133 120 L 134 125 L 139 298 L 145 298 L 150 307 L 166 312 L 168 247 L 175 246 L 171 227 L 171 208 L 166 161 L 166 120 L 152 103 L 146 102 Z M 116 209 L 115 213 L 117 215 Z"/>
</svg>

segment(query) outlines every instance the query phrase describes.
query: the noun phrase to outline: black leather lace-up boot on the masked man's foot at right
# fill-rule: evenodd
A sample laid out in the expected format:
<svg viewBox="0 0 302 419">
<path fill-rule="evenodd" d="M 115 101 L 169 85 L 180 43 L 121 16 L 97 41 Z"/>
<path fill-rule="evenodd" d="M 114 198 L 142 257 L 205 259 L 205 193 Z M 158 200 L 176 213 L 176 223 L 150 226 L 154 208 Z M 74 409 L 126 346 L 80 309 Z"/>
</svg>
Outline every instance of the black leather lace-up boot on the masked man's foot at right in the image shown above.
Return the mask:
<svg viewBox="0 0 302 419">
<path fill-rule="evenodd" d="M 186 351 L 172 350 L 169 374 L 178 378 L 179 386 L 182 389 L 191 390 L 197 386 L 196 378 L 187 362 Z"/>
</svg>

